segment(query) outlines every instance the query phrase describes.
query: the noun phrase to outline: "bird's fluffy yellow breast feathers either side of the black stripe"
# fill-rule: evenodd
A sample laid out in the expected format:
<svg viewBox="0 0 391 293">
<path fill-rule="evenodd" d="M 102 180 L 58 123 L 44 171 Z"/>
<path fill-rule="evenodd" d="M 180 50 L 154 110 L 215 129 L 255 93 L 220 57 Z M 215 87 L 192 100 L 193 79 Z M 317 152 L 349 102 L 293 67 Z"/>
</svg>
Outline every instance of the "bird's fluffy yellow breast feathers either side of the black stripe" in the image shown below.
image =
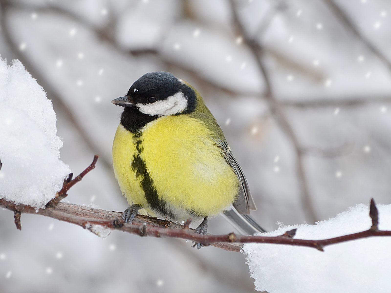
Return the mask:
<svg viewBox="0 0 391 293">
<path fill-rule="evenodd" d="M 129 203 L 147 207 L 140 177 L 130 167 L 138 155 L 158 197 L 175 209 L 199 216 L 218 214 L 239 192 L 239 180 L 210 131 L 188 115 L 160 117 L 136 138 L 122 125 L 117 129 L 113 144 L 117 180 Z"/>
</svg>

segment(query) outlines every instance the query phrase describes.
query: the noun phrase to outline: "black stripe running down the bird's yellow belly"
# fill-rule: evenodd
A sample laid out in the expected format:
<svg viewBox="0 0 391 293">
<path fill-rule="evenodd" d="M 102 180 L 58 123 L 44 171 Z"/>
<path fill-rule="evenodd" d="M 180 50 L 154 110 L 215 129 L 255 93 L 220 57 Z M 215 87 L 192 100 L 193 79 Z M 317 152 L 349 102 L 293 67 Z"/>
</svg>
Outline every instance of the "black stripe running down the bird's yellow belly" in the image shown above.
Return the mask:
<svg viewBox="0 0 391 293">
<path fill-rule="evenodd" d="M 141 186 L 145 194 L 145 198 L 147 199 L 149 207 L 158 211 L 161 214 L 169 216 L 172 218 L 172 214 L 167 211 L 166 204 L 163 200 L 158 197 L 158 191 L 153 186 L 153 180 L 147 172 L 147 166 L 145 165 L 144 160 L 141 157 L 142 153 L 142 133 L 138 132 L 133 136 L 133 141 L 136 146 L 136 150 L 138 154 L 134 155 L 133 161 L 131 163 L 131 168 L 134 172 L 136 172 L 137 178 L 142 178 Z"/>
</svg>

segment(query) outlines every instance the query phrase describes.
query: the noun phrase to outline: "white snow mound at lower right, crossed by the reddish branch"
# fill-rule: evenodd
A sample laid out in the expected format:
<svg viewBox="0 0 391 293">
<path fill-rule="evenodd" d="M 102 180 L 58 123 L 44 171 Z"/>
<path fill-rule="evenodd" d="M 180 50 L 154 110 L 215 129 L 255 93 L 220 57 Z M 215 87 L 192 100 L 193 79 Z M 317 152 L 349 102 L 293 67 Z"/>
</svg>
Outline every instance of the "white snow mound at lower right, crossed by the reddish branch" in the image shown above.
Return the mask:
<svg viewBox="0 0 391 293">
<path fill-rule="evenodd" d="M 377 205 L 379 229 L 391 230 L 391 205 Z M 282 235 L 298 228 L 297 239 L 326 239 L 371 227 L 368 205 L 359 204 L 315 225 L 282 226 L 262 236 Z M 245 244 L 242 252 L 255 287 L 278 292 L 391 292 L 391 237 L 357 239 L 314 248 L 276 244 Z"/>
</svg>

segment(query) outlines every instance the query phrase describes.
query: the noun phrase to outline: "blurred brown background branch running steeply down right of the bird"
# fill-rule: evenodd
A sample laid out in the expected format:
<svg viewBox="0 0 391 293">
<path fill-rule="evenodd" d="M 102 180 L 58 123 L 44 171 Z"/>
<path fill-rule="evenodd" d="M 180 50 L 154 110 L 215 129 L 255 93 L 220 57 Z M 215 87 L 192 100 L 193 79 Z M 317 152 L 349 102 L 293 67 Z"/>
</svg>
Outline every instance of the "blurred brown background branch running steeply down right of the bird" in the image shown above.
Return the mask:
<svg viewBox="0 0 391 293">
<path fill-rule="evenodd" d="M 264 55 L 264 48 L 257 41 L 255 41 L 252 37 L 248 35 L 246 29 L 243 27 L 242 23 L 239 20 L 239 15 L 237 13 L 234 0 L 230 0 L 231 11 L 233 14 L 233 20 L 237 30 L 240 35 L 243 37 L 245 43 L 247 44 L 249 50 L 251 51 L 256 64 L 258 65 L 259 70 L 262 73 L 263 81 L 265 83 L 265 93 L 262 97 L 264 97 L 269 105 L 269 109 L 271 113 L 273 113 L 276 121 L 280 125 L 283 132 L 285 132 L 286 136 L 291 140 L 292 146 L 294 147 L 296 154 L 296 169 L 298 182 L 300 184 L 301 190 L 301 203 L 303 206 L 303 211 L 306 214 L 306 218 L 309 222 L 316 222 L 317 218 L 314 212 L 314 207 L 312 204 L 312 198 L 310 197 L 310 192 L 307 183 L 307 176 L 305 175 L 304 170 L 304 152 L 300 147 L 300 143 L 296 138 L 296 134 L 294 133 L 287 116 L 285 115 L 285 111 L 281 103 L 274 97 L 272 83 L 269 77 L 269 73 L 266 69 L 266 66 L 262 60 Z"/>
</svg>

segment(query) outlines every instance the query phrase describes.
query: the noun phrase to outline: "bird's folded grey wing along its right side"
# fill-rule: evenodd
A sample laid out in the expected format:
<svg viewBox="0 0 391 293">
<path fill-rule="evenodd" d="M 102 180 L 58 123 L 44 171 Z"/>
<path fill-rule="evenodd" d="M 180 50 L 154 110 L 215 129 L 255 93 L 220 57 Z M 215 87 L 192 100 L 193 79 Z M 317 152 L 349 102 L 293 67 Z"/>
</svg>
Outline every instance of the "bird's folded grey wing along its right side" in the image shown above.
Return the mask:
<svg viewBox="0 0 391 293">
<path fill-rule="evenodd" d="M 231 148 L 228 146 L 228 143 L 225 139 L 219 139 L 216 141 L 217 145 L 223 150 L 223 155 L 226 162 L 231 166 L 233 172 L 239 178 L 241 192 L 238 199 L 235 201 L 233 206 L 237 209 L 240 214 L 249 214 L 250 210 L 255 211 L 255 203 L 253 197 L 251 196 L 250 189 L 242 168 L 240 168 L 239 163 L 236 161 L 235 157 L 232 154 Z"/>
</svg>

